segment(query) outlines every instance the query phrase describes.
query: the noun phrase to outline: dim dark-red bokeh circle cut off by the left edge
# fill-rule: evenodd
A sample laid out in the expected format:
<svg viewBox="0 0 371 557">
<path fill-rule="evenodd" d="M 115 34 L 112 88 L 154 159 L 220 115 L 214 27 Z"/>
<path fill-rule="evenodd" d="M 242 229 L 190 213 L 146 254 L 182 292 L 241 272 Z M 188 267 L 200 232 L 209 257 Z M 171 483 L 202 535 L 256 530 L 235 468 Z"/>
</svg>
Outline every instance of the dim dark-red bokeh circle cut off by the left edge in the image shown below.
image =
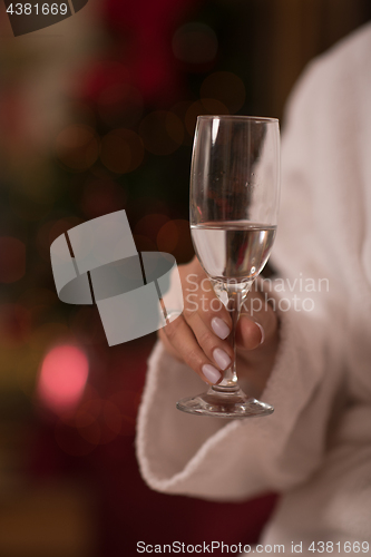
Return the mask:
<svg viewBox="0 0 371 557">
<path fill-rule="evenodd" d="M 26 245 L 11 236 L 0 237 L 0 283 L 13 283 L 26 273 Z"/>
</svg>

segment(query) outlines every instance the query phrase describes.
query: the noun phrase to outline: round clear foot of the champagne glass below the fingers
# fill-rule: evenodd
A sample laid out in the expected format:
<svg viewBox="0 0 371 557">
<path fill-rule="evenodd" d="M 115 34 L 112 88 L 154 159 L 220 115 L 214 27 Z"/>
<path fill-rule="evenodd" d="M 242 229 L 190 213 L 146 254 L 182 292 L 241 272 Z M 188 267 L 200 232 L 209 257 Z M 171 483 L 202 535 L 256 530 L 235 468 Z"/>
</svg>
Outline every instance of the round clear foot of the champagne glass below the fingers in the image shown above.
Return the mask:
<svg viewBox="0 0 371 557">
<path fill-rule="evenodd" d="M 240 388 L 221 391 L 217 385 L 196 397 L 179 400 L 176 408 L 183 412 L 216 418 L 254 418 L 274 412 L 273 407 L 247 397 Z"/>
</svg>

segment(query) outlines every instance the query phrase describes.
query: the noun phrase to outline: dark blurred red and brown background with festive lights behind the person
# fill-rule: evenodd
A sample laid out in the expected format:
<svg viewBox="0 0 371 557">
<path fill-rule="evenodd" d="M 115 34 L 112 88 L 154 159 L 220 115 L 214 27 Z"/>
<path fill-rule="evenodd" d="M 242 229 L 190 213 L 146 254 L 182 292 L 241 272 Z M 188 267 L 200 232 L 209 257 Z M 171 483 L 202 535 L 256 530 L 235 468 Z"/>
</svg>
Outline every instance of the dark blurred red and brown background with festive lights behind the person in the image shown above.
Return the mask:
<svg viewBox="0 0 371 557">
<path fill-rule="evenodd" d="M 189 261 L 197 115 L 282 118 L 305 63 L 370 18 L 369 0 L 89 0 L 14 38 L 0 3 L 1 556 L 256 541 L 276 495 L 222 505 L 143 483 L 156 335 L 108 348 L 95 306 L 58 300 L 49 247 L 125 208 L 138 250 Z"/>
</svg>

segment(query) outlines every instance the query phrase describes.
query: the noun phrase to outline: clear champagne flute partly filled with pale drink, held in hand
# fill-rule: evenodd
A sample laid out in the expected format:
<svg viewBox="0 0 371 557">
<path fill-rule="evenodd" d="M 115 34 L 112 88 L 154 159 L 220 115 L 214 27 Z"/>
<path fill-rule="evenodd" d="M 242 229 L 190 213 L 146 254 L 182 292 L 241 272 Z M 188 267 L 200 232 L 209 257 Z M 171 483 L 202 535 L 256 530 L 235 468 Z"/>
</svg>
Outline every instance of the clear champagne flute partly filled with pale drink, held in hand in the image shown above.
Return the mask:
<svg viewBox="0 0 371 557">
<path fill-rule="evenodd" d="M 235 358 L 219 384 L 178 401 L 179 410 L 225 418 L 274 411 L 238 385 L 235 331 L 241 306 L 272 250 L 279 198 L 279 120 L 199 116 L 191 169 L 191 233 L 199 263 L 231 313 Z"/>
</svg>

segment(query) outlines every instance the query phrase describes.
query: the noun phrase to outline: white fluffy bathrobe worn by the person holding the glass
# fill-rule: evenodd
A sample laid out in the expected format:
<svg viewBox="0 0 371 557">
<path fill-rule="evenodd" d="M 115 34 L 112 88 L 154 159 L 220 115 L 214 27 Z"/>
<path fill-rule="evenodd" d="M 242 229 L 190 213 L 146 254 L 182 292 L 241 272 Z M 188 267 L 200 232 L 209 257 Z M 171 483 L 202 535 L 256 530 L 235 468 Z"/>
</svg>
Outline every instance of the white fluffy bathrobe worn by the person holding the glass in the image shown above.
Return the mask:
<svg viewBox="0 0 371 557">
<path fill-rule="evenodd" d="M 281 346 L 261 400 L 275 412 L 179 412 L 177 399 L 205 385 L 158 344 L 139 411 L 141 475 L 153 489 L 205 499 L 280 491 L 263 546 L 290 555 L 302 544 L 313 556 L 332 543 L 333 555 L 354 555 L 369 541 L 371 555 L 370 25 L 312 62 L 292 95 L 272 262 Z"/>
</svg>

